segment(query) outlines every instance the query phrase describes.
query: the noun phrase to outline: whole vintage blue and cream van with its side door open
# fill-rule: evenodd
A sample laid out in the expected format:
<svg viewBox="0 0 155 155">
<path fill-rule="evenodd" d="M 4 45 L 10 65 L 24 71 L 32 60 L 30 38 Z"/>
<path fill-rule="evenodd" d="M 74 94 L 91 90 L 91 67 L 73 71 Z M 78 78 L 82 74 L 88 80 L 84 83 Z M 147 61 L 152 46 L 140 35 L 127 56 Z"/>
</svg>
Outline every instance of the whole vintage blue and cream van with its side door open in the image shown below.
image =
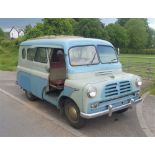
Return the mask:
<svg viewBox="0 0 155 155">
<path fill-rule="evenodd" d="M 142 100 L 139 76 L 122 71 L 113 45 L 90 38 L 20 44 L 17 84 L 30 100 L 46 100 L 80 128 L 85 119 L 125 112 Z"/>
</svg>

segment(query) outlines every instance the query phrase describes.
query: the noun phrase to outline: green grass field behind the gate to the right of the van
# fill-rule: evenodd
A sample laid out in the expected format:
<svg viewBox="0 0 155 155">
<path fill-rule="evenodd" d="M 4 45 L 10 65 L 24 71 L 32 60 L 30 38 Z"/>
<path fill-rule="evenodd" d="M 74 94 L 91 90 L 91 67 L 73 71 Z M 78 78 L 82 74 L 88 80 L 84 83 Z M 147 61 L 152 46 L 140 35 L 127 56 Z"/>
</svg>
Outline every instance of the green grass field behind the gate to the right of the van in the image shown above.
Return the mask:
<svg viewBox="0 0 155 155">
<path fill-rule="evenodd" d="M 121 54 L 119 59 L 124 71 L 140 75 L 146 80 L 153 80 L 154 84 L 145 86 L 144 91 L 150 91 L 155 95 L 155 55 Z"/>
</svg>

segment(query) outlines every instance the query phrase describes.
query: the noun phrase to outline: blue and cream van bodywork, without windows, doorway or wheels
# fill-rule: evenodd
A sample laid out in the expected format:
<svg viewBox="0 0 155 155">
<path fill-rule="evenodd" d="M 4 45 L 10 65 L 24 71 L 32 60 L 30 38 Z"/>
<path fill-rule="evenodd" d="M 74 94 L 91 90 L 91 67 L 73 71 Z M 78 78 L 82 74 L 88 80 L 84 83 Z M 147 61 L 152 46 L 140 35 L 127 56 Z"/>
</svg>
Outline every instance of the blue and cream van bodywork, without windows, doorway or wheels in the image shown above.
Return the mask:
<svg viewBox="0 0 155 155">
<path fill-rule="evenodd" d="M 98 45 L 111 46 L 108 41 L 89 38 L 38 39 L 22 42 L 19 48 L 17 67 L 17 83 L 34 96 L 61 108 L 63 100 L 70 98 L 76 103 L 83 118 L 89 119 L 109 114 L 140 102 L 140 87 L 137 81 L 140 77 L 122 71 L 121 63 L 72 66 L 69 59 L 69 49 L 76 46 Z M 27 49 L 35 47 L 62 48 L 66 63 L 66 80 L 64 89 L 57 95 L 46 93 L 49 85 L 49 56 L 47 63 L 27 60 Z M 25 56 L 22 58 L 22 51 Z M 90 98 L 88 88 L 92 86 L 97 95 Z M 92 106 L 92 105 L 95 106 Z"/>
</svg>

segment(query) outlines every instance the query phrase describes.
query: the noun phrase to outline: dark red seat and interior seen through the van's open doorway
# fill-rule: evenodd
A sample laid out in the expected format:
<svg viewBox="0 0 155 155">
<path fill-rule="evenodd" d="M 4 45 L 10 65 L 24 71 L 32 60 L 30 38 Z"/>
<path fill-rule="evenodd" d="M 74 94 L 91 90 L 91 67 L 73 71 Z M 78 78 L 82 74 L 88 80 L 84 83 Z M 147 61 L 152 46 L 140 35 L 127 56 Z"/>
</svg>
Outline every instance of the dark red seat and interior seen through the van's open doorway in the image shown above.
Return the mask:
<svg viewBox="0 0 155 155">
<path fill-rule="evenodd" d="M 50 51 L 50 91 L 61 92 L 64 88 L 65 79 L 66 64 L 64 58 L 64 50 L 59 48 L 53 48 Z"/>
</svg>

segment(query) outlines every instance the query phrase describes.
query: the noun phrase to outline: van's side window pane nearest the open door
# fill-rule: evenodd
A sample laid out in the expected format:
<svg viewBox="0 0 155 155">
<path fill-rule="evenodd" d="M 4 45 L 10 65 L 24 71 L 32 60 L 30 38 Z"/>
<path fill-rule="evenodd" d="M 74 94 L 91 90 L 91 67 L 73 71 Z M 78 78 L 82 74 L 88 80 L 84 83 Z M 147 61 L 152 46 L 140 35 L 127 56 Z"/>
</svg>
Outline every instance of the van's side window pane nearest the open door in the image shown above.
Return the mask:
<svg viewBox="0 0 155 155">
<path fill-rule="evenodd" d="M 37 48 L 37 52 L 36 52 L 34 61 L 40 62 L 40 63 L 47 63 L 46 48 L 44 48 L 44 47 Z"/>
</svg>

